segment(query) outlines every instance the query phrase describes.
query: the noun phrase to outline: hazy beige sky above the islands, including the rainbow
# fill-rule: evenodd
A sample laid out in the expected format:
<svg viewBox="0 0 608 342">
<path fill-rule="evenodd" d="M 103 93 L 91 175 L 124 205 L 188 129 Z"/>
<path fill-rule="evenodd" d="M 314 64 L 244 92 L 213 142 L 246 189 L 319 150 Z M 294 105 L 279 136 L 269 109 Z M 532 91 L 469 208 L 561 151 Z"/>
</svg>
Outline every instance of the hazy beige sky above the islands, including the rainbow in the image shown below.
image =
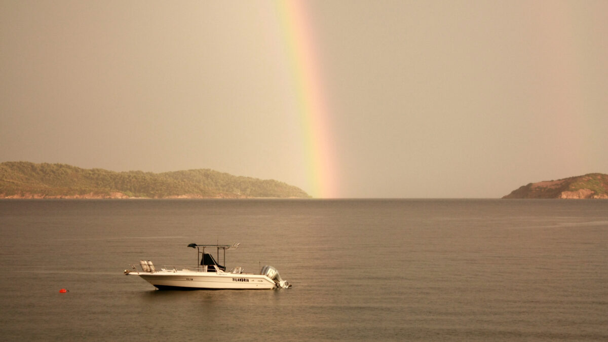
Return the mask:
<svg viewBox="0 0 608 342">
<path fill-rule="evenodd" d="M 0 0 L 0 162 L 316 198 L 608 173 L 608 1 Z"/>
</svg>

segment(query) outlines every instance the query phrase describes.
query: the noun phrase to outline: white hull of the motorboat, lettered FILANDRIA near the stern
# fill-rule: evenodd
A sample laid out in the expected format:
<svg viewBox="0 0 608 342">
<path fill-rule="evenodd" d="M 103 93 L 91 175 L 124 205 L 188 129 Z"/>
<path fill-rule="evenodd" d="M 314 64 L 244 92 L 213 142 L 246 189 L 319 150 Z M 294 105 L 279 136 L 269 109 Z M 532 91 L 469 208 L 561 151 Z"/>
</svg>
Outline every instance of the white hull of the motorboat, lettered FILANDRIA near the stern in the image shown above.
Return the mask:
<svg viewBox="0 0 608 342">
<path fill-rule="evenodd" d="M 137 274 L 157 288 L 264 290 L 277 287 L 274 281 L 261 274 L 196 271 L 130 272 L 129 274 Z"/>
</svg>

